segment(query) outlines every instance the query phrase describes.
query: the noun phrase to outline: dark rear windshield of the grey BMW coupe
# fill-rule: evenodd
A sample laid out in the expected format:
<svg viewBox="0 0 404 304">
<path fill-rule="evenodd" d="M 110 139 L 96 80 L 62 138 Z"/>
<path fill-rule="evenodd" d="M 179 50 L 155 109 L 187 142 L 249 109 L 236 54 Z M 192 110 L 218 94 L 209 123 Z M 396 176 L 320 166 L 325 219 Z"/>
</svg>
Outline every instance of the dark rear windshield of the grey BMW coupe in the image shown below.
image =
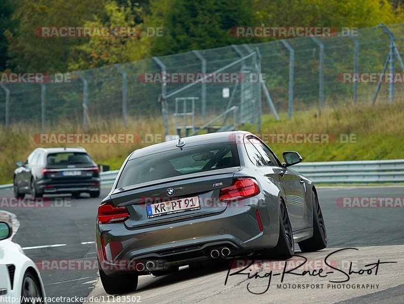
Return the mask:
<svg viewBox="0 0 404 304">
<path fill-rule="evenodd" d="M 127 162 L 117 188 L 185 174 L 240 166 L 234 143 L 198 145 L 141 156 Z"/>
</svg>

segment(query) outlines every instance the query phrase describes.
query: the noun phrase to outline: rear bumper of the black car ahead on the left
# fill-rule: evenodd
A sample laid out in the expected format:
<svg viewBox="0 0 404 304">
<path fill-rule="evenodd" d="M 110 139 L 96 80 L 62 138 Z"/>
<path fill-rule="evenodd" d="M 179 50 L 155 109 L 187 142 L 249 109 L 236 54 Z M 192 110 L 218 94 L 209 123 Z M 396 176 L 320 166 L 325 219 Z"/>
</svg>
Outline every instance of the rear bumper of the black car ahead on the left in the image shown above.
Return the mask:
<svg viewBox="0 0 404 304">
<path fill-rule="evenodd" d="M 36 184 L 36 188 L 39 193 L 43 194 L 61 194 L 73 192 L 96 192 L 100 190 L 100 185 L 99 178 L 74 182 L 43 180 Z"/>
</svg>

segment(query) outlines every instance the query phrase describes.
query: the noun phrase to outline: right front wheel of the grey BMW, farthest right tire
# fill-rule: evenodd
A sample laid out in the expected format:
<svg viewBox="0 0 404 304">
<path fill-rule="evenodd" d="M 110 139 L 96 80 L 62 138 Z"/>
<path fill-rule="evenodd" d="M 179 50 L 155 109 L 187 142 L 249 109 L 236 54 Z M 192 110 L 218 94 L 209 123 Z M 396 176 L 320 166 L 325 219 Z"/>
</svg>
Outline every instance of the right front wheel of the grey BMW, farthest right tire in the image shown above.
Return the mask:
<svg viewBox="0 0 404 304">
<path fill-rule="evenodd" d="M 327 232 L 325 229 L 323 213 L 319 200 L 313 191 L 313 236 L 310 239 L 298 242 L 301 252 L 311 252 L 327 247 Z"/>
</svg>

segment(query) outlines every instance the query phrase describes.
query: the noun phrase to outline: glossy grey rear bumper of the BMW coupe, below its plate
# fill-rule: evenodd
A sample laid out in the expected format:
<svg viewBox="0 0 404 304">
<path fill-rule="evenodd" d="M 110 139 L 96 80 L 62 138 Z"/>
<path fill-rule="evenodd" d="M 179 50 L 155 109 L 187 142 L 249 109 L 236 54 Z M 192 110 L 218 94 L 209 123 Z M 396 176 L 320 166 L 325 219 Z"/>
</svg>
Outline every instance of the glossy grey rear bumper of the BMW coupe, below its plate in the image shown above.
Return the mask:
<svg viewBox="0 0 404 304">
<path fill-rule="evenodd" d="M 263 232 L 257 222 L 257 209 Z M 272 248 L 279 237 L 279 221 L 273 217 L 278 218 L 278 214 L 270 216 L 266 207 L 243 206 L 227 207 L 219 214 L 203 218 L 141 229 L 129 230 L 124 223 L 96 224 L 98 259 L 104 272 L 115 276 L 135 270 L 133 264 L 138 261 L 181 266 L 210 259 L 213 249 L 223 247 L 231 250 L 230 255 Z M 123 264 L 123 269 L 114 268 Z"/>
</svg>

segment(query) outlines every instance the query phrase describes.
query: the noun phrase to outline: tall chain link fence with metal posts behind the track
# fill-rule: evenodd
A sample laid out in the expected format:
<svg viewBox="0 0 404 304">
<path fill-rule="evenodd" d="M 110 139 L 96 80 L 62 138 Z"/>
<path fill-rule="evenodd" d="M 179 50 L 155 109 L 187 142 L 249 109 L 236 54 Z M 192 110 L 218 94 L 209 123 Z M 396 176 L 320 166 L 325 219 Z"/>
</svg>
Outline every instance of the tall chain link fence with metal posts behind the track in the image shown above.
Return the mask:
<svg viewBox="0 0 404 304">
<path fill-rule="evenodd" d="M 400 83 L 344 82 L 343 75 L 404 72 L 403 38 L 403 24 L 379 25 L 355 36 L 290 38 L 115 64 L 73 72 L 69 81 L 3 82 L 0 123 L 30 122 L 45 131 L 67 121 L 86 130 L 94 122 L 126 125 L 150 117 L 164 119 L 166 135 L 182 136 L 244 123 L 260 129 L 267 113 L 279 119 L 278 113 L 291 117 L 340 104 L 392 103 L 403 96 Z M 190 78 L 172 79 L 180 74 Z M 223 75 L 239 78 L 223 81 Z"/>
</svg>

